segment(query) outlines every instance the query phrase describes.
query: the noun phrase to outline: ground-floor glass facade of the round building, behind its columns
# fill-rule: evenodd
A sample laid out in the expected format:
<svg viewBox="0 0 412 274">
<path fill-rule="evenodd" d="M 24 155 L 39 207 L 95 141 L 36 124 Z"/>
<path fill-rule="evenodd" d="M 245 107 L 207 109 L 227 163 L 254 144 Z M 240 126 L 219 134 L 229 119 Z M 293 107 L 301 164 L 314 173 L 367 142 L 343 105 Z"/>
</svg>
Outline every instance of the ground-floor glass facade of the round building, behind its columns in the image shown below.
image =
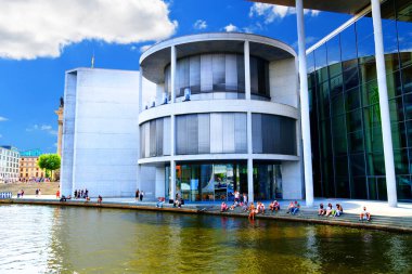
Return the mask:
<svg viewBox="0 0 412 274">
<path fill-rule="evenodd" d="M 166 166 L 166 193 L 170 193 L 170 166 Z M 233 201 L 234 192 L 247 194 L 247 162 L 177 162 L 176 191 L 186 201 Z M 279 164 L 254 164 L 255 199 L 282 197 Z M 167 196 L 170 198 L 170 195 Z"/>
</svg>

